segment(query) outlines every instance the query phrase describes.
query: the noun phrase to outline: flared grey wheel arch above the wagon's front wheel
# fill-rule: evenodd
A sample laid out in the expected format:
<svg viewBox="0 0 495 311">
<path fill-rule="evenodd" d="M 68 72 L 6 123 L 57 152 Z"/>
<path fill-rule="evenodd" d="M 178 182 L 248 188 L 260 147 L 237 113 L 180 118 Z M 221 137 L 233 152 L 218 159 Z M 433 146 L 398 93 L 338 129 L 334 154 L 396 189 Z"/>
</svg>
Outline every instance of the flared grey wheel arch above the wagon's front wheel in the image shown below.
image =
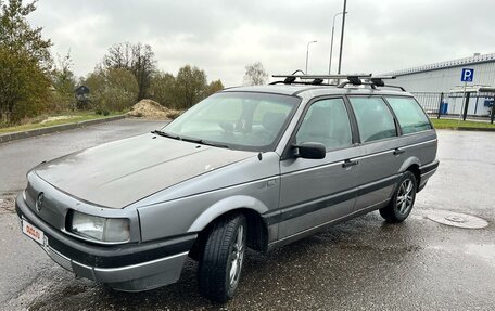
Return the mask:
<svg viewBox="0 0 495 311">
<path fill-rule="evenodd" d="M 219 216 L 240 208 L 255 210 L 259 215 L 268 211 L 268 207 L 255 197 L 248 195 L 226 197 L 210 206 L 204 212 L 202 212 L 188 229 L 188 232 L 200 232 Z"/>
</svg>

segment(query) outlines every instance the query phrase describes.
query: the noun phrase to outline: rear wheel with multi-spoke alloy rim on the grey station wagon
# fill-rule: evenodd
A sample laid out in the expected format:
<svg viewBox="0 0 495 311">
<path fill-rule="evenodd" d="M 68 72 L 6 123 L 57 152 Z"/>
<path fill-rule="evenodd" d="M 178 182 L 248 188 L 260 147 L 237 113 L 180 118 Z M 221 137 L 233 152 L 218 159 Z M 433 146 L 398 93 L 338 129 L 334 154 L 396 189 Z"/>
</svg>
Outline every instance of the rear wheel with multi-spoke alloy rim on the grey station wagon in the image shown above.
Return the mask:
<svg viewBox="0 0 495 311">
<path fill-rule="evenodd" d="M 403 222 L 409 216 L 416 199 L 417 181 L 412 172 L 406 171 L 399 179 L 389 205 L 380 209 L 388 222 Z"/>
</svg>

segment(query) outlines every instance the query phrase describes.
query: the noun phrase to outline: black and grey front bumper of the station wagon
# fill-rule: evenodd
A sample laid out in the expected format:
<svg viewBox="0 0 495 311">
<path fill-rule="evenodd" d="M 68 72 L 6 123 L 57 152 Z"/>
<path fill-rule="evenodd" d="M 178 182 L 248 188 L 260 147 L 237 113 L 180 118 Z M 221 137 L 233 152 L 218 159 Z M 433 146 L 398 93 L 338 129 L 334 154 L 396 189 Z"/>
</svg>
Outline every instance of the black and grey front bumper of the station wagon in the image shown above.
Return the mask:
<svg viewBox="0 0 495 311">
<path fill-rule="evenodd" d="M 176 282 L 195 234 L 160 242 L 100 246 L 55 230 L 17 196 L 15 210 L 47 236 L 42 248 L 62 268 L 117 290 L 141 291 Z"/>
</svg>

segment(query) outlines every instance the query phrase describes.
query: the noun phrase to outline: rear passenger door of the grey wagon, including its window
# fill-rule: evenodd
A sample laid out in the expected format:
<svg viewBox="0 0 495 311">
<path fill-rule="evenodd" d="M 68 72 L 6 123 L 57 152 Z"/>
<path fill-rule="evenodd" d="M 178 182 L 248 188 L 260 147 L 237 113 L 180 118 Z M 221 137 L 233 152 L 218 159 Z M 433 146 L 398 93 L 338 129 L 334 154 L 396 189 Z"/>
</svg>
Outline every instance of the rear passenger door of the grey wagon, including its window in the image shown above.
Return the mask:
<svg viewBox="0 0 495 311">
<path fill-rule="evenodd" d="M 403 164 L 399 131 L 386 102 L 380 96 L 348 96 L 359 130 L 358 183 L 355 210 L 389 200 Z"/>
</svg>

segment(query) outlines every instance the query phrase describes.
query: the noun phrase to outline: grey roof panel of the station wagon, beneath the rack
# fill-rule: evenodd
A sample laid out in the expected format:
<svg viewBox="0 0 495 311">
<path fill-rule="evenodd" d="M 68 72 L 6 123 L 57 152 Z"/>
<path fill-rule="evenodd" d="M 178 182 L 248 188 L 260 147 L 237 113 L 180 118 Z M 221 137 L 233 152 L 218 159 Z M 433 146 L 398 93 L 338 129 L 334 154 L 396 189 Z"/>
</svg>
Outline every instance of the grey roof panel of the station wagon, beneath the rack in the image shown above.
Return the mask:
<svg viewBox="0 0 495 311">
<path fill-rule="evenodd" d="M 375 95 L 402 95 L 412 96 L 408 92 L 404 92 L 396 89 L 390 88 L 376 88 L 372 89 L 369 86 L 354 87 L 348 86 L 339 88 L 337 86 L 328 85 L 268 85 L 268 86 L 243 86 L 233 87 L 223 90 L 223 92 L 256 92 L 256 93 L 272 93 L 282 95 L 297 95 L 305 92 L 313 93 L 314 95 L 342 95 L 342 94 L 375 94 Z"/>
</svg>

